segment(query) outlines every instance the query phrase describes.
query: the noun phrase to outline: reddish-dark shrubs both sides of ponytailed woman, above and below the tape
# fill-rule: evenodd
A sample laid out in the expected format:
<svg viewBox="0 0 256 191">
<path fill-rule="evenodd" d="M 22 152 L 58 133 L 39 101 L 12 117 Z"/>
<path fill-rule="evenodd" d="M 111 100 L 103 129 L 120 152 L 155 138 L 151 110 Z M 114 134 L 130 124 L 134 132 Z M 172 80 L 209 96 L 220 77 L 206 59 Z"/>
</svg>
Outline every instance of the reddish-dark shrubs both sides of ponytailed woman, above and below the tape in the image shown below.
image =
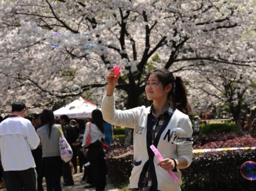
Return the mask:
<svg viewBox="0 0 256 191">
<path fill-rule="evenodd" d="M 202 135 L 206 143 L 194 145 L 197 148 L 224 148 L 256 146 L 256 138 L 248 132 Z M 202 138 L 202 139 L 203 139 Z M 200 136 L 196 138 L 200 140 Z M 196 140 L 195 139 L 195 140 Z M 218 140 L 210 142 L 210 140 Z M 106 162 L 111 182 L 117 185 L 127 183 L 131 175 L 133 156 L 113 159 L 129 151 L 122 143 L 116 142 L 108 152 Z M 235 150 L 194 154 L 189 168 L 181 169 L 183 176 L 182 191 L 254 191 L 256 181 L 244 179 L 240 174 L 243 162 L 256 162 L 256 150 Z"/>
</svg>

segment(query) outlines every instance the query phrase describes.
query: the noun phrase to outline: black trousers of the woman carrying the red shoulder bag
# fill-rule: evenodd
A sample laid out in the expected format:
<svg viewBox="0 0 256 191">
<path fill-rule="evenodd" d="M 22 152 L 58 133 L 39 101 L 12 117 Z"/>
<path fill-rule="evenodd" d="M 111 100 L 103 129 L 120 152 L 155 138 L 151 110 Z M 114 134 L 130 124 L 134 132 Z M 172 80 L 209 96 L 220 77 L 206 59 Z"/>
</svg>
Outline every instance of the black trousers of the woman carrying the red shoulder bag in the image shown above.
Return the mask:
<svg viewBox="0 0 256 191">
<path fill-rule="evenodd" d="M 93 171 L 93 181 L 96 191 L 104 191 L 106 185 L 106 163 L 104 160 L 102 143 L 99 145 L 91 144 L 88 150 L 88 159 Z"/>
</svg>

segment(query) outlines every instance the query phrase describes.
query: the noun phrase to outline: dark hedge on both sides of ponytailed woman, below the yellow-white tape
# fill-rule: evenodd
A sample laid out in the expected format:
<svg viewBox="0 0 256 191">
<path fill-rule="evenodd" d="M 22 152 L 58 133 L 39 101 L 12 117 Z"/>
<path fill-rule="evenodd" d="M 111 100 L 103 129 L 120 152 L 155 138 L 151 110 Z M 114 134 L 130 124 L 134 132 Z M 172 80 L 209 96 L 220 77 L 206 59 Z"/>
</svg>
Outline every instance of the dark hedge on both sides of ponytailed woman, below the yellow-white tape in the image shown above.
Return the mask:
<svg viewBox="0 0 256 191">
<path fill-rule="evenodd" d="M 126 151 L 115 149 L 108 154 L 108 175 L 114 184 L 129 181 L 132 156 L 111 158 Z M 189 168 L 181 169 L 182 191 L 255 191 L 256 181 L 246 180 L 240 174 L 241 164 L 248 160 L 256 162 L 256 150 L 195 154 Z"/>
</svg>

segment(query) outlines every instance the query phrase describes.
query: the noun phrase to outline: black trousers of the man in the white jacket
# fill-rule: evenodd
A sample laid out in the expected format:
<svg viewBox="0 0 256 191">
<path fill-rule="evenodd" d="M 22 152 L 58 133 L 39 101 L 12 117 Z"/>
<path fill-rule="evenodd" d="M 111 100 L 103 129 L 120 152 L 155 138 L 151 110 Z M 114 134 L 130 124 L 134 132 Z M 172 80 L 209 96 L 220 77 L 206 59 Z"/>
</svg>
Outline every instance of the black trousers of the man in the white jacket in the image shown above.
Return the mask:
<svg viewBox="0 0 256 191">
<path fill-rule="evenodd" d="M 37 191 L 37 173 L 35 168 L 23 171 L 6 171 L 8 191 Z"/>
</svg>

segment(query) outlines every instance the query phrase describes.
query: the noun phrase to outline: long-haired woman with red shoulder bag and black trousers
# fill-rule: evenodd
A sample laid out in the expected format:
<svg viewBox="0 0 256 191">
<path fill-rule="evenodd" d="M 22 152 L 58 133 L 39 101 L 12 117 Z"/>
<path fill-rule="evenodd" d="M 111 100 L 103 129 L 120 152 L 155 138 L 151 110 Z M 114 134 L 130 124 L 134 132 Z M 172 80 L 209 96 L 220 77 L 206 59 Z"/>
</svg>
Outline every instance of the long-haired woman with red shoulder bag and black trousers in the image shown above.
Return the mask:
<svg viewBox="0 0 256 191">
<path fill-rule="evenodd" d="M 85 150 L 84 143 L 89 134 L 90 145 L 88 146 L 87 156 L 93 171 L 93 182 L 95 183 L 96 191 L 104 191 L 106 185 L 106 163 L 102 147 L 104 127 L 102 112 L 99 109 L 93 110 L 91 122 L 86 123 L 82 145 L 83 151 Z"/>
</svg>

